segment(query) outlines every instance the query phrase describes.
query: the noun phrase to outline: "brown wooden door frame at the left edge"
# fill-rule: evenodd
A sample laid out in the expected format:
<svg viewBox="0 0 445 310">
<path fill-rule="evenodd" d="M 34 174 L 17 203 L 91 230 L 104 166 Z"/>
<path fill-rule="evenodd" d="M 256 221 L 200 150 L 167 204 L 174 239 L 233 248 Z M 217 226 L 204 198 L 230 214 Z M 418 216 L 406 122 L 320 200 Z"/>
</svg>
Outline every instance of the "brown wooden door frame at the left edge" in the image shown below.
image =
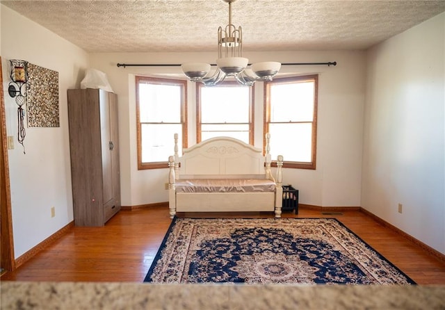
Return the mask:
<svg viewBox="0 0 445 310">
<path fill-rule="evenodd" d="M 8 137 L 6 136 L 5 101 L 3 97 L 3 70 L 0 56 L 0 266 L 4 270 L 15 270 L 13 217 L 11 211 L 11 188 L 8 163 Z"/>
</svg>

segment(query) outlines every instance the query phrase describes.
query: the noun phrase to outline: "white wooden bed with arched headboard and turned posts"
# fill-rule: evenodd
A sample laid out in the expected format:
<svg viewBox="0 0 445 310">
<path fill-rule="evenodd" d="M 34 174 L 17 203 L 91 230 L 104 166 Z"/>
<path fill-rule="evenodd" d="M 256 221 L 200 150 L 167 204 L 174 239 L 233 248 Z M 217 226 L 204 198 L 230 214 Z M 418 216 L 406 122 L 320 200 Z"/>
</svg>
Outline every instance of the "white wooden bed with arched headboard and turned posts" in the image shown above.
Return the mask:
<svg viewBox="0 0 445 310">
<path fill-rule="evenodd" d="M 270 170 L 270 134 L 266 154 L 241 140 L 204 140 L 168 158 L 170 218 L 177 212 L 271 211 L 281 217 L 283 156 L 276 178 Z"/>
</svg>

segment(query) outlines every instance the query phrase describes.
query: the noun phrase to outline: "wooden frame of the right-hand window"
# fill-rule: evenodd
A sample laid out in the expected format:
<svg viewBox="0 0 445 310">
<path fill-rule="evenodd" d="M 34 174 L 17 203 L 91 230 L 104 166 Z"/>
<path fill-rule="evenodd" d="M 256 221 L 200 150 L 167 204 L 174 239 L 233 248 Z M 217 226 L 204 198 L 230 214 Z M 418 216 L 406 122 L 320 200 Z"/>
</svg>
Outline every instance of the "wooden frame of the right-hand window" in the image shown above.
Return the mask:
<svg viewBox="0 0 445 310">
<path fill-rule="evenodd" d="M 285 78 L 273 79 L 273 81 L 264 82 L 264 133 L 268 133 L 270 122 L 270 86 L 276 84 L 301 83 L 305 81 L 314 82 L 314 115 L 312 118 L 312 158 L 310 162 L 286 161 L 284 156 L 283 168 L 309 169 L 316 170 L 316 151 L 317 151 L 317 111 L 318 111 L 318 74 L 305 76 L 290 76 Z M 308 123 L 308 122 L 290 122 L 290 124 Z M 274 137 L 272 137 L 274 138 Z M 263 148 L 266 152 L 266 138 L 263 138 Z M 272 161 L 272 166 L 277 166 L 277 161 Z"/>
</svg>

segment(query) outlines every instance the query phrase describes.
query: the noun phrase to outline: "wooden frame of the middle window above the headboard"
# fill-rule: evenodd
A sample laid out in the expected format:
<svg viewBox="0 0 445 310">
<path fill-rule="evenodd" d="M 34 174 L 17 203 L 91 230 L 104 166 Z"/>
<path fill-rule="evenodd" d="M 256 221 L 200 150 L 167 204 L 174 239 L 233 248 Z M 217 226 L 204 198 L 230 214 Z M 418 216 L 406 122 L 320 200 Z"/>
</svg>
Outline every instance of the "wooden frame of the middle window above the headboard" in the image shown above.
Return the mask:
<svg viewBox="0 0 445 310">
<path fill-rule="evenodd" d="M 248 87 L 249 88 L 249 98 L 250 98 L 250 102 L 249 102 L 249 144 L 250 145 L 254 145 L 254 85 L 252 86 L 242 86 L 239 83 L 237 83 L 236 81 L 225 81 L 223 83 L 220 83 L 216 86 L 211 86 L 212 88 L 217 88 L 217 87 Z M 202 83 L 197 83 L 196 84 L 196 142 L 199 143 L 202 140 L 202 136 L 201 136 L 201 119 L 202 119 L 202 114 L 201 114 L 201 89 L 206 87 L 204 84 Z M 209 86 L 207 86 L 209 87 Z M 205 124 L 218 124 L 218 123 L 205 123 Z M 232 123 L 230 123 L 232 124 Z M 234 124 L 238 124 L 238 123 L 234 123 Z M 244 123 L 242 123 L 244 124 Z"/>
</svg>

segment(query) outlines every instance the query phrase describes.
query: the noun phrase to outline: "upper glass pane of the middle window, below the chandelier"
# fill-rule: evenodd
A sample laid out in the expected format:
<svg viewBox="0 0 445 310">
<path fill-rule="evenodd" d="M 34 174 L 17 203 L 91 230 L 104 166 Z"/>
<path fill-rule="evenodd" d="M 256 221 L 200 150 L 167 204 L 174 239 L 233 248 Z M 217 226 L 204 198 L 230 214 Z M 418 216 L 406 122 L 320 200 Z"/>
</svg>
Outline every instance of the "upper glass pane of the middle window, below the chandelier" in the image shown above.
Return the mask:
<svg viewBox="0 0 445 310">
<path fill-rule="evenodd" d="M 201 122 L 248 123 L 250 89 L 248 87 L 201 87 Z"/>
</svg>

